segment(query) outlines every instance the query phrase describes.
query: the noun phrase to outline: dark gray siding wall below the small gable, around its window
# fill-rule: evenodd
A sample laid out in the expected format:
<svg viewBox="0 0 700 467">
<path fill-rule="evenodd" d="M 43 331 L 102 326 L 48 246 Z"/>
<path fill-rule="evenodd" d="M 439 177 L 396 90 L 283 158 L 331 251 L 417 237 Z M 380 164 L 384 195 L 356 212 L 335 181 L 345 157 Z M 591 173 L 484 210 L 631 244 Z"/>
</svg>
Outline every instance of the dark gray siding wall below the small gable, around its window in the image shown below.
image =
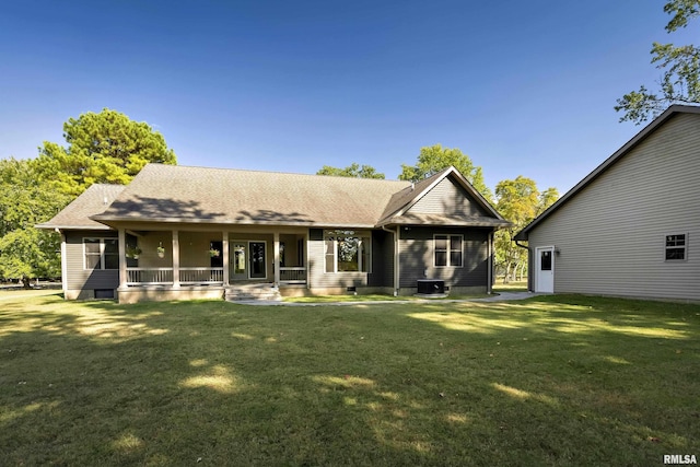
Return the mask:
<svg viewBox="0 0 700 467">
<path fill-rule="evenodd" d="M 434 267 L 433 235 L 463 235 L 463 267 Z M 448 287 L 487 287 L 489 275 L 488 229 L 401 229 L 400 287 L 417 287 L 418 279 L 443 279 Z"/>
</svg>

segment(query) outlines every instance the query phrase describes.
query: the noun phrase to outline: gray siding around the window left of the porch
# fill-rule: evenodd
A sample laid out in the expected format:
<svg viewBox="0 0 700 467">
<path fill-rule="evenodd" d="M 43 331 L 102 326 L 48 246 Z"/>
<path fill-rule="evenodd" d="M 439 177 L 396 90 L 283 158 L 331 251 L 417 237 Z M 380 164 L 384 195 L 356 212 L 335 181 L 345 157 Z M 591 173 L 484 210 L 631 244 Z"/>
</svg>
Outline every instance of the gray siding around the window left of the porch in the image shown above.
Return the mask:
<svg viewBox="0 0 700 467">
<path fill-rule="evenodd" d="M 117 289 L 119 270 L 92 270 L 84 268 L 83 237 L 116 238 L 112 231 L 66 232 L 66 261 L 68 290 Z"/>
</svg>

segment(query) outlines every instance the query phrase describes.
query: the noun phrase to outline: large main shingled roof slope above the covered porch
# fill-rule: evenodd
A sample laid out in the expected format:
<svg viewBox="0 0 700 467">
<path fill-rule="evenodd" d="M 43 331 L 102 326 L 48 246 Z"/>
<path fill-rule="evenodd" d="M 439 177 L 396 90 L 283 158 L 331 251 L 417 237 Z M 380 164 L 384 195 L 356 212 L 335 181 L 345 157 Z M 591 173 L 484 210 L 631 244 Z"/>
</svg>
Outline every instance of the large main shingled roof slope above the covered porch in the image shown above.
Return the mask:
<svg viewBox="0 0 700 467">
<path fill-rule="evenodd" d="M 410 182 L 149 164 L 100 222 L 366 226 Z"/>
</svg>

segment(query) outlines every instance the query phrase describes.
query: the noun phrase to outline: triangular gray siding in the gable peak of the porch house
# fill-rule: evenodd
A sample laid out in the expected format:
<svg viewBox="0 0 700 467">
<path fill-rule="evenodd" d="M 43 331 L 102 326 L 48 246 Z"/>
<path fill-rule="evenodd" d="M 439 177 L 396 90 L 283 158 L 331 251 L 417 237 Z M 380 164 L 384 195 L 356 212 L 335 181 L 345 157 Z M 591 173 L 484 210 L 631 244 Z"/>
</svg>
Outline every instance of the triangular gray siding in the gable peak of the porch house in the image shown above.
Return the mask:
<svg viewBox="0 0 700 467">
<path fill-rule="evenodd" d="M 459 213 L 468 215 L 491 215 L 472 201 L 467 191 L 450 177 L 443 178 L 407 212 L 421 214 Z"/>
</svg>

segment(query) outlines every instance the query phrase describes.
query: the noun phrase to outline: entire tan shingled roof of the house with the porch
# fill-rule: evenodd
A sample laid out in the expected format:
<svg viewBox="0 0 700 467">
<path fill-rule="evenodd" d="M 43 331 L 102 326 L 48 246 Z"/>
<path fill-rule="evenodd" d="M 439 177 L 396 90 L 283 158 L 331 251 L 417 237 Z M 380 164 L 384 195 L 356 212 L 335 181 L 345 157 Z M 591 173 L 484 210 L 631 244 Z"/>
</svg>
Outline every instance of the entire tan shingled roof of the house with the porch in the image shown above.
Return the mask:
<svg viewBox="0 0 700 467">
<path fill-rule="evenodd" d="M 459 215 L 454 218 L 454 213 L 440 219 L 402 218 L 407 207 L 451 174 L 477 202 L 493 213 L 493 218 L 463 219 Z M 95 197 L 91 188 L 66 208 L 68 212 L 62 211 L 45 225 L 58 226 L 59 217 L 62 215 L 66 219 L 80 218 L 80 223 L 86 226 L 83 222 L 85 211 L 72 212 L 83 205 L 94 209 L 89 219 L 91 225 L 103 229 L 105 224 L 114 226 L 125 221 L 365 229 L 399 223 L 506 224 L 454 167 L 412 184 L 404 180 L 148 164 L 128 186 L 113 189 L 116 196 L 109 200 L 108 207 L 90 201 Z M 83 196 L 88 199 L 81 199 Z M 69 223 L 62 224 L 66 225 Z"/>
</svg>

